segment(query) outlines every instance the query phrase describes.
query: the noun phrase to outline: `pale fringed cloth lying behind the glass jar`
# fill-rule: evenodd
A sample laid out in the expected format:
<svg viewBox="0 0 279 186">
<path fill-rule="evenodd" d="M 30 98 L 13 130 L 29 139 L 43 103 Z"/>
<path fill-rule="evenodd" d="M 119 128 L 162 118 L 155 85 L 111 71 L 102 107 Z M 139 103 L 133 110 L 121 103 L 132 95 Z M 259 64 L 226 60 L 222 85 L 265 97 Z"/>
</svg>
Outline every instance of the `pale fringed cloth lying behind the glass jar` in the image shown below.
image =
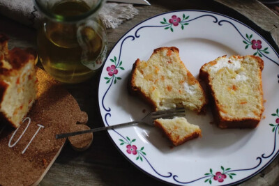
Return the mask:
<svg viewBox="0 0 279 186">
<path fill-rule="evenodd" d="M 38 28 L 40 20 L 43 19 L 43 15 L 34 6 L 33 0 L 1 0 L 0 14 L 34 28 Z M 112 29 L 137 14 L 138 10 L 127 3 L 105 3 L 99 12 L 105 26 Z"/>
</svg>

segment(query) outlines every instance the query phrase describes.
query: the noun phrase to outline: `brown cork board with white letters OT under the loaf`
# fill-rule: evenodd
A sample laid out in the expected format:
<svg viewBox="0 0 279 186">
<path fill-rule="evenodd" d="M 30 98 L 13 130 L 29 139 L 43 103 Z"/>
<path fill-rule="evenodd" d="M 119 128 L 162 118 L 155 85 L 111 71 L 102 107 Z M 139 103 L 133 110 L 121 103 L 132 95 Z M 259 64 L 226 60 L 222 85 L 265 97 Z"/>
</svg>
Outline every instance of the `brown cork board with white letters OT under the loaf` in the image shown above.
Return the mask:
<svg viewBox="0 0 279 186">
<path fill-rule="evenodd" d="M 66 139 L 55 134 L 87 130 L 87 114 L 61 84 L 39 68 L 38 100 L 15 130 L 0 125 L 0 185 L 37 185 L 43 179 Z M 90 146 L 93 134 L 70 137 L 77 150 Z"/>
</svg>

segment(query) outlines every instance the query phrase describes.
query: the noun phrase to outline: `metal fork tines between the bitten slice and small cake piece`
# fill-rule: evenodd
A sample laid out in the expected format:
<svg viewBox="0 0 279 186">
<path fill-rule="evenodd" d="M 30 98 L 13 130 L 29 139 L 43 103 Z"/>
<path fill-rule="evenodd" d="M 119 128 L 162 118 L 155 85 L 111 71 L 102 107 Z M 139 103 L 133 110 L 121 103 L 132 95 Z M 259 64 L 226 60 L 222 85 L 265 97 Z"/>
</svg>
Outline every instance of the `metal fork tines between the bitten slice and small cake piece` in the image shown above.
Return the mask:
<svg viewBox="0 0 279 186">
<path fill-rule="evenodd" d="M 151 118 L 172 118 L 174 116 L 185 116 L 185 108 L 176 108 L 176 109 L 169 109 L 165 111 L 154 111 L 151 112 Z"/>
</svg>

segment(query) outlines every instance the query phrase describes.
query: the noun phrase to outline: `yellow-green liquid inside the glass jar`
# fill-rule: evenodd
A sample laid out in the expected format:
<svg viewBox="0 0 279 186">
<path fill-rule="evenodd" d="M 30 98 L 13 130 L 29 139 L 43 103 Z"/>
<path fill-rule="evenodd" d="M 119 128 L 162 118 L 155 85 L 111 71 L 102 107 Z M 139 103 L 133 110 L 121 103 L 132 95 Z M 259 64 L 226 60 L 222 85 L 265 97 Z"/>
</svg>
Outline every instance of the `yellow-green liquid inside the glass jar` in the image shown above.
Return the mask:
<svg viewBox="0 0 279 186">
<path fill-rule="evenodd" d="M 52 12 L 61 16 L 80 15 L 89 10 L 83 1 L 60 1 L 54 4 Z M 77 24 L 48 21 L 38 31 L 38 54 L 43 67 L 60 82 L 79 83 L 89 79 L 96 70 L 84 63 L 96 63 L 103 51 L 103 40 L 91 27 L 80 31 L 80 40 L 86 43 L 86 53 L 77 38 Z"/>
</svg>

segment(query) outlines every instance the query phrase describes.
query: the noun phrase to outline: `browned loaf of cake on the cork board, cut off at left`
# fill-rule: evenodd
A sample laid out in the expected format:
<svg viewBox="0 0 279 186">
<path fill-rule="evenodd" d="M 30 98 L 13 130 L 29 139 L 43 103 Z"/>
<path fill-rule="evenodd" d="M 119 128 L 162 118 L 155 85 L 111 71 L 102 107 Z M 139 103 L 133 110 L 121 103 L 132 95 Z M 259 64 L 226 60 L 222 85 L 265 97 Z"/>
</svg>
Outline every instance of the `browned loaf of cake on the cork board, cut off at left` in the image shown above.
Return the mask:
<svg viewBox="0 0 279 186">
<path fill-rule="evenodd" d="M 36 54 L 30 49 L 8 50 L 0 33 L 0 121 L 19 127 L 36 100 Z"/>
</svg>

